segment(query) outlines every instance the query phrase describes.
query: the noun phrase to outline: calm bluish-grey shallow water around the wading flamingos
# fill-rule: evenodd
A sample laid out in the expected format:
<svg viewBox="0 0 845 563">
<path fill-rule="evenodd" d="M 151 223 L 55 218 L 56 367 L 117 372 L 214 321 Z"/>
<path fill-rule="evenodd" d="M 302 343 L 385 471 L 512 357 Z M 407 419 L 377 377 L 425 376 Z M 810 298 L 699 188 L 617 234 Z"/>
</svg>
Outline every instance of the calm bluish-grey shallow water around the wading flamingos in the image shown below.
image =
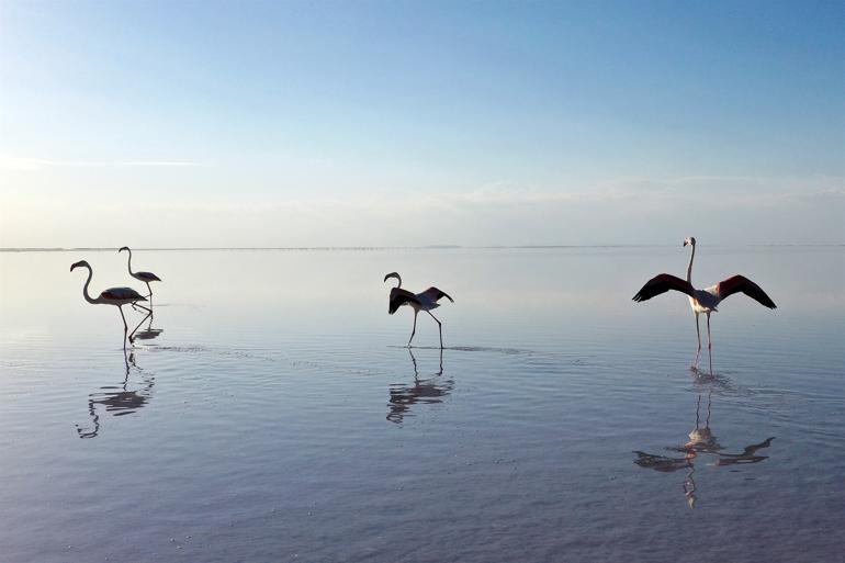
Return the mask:
<svg viewBox="0 0 845 563">
<path fill-rule="evenodd" d="M 125 256 L 0 254 L 0 561 L 845 561 L 845 248 L 700 244 L 778 304 L 700 380 L 686 297 L 631 301 L 687 250 L 138 250 L 126 358 L 68 271 Z"/>
</svg>

